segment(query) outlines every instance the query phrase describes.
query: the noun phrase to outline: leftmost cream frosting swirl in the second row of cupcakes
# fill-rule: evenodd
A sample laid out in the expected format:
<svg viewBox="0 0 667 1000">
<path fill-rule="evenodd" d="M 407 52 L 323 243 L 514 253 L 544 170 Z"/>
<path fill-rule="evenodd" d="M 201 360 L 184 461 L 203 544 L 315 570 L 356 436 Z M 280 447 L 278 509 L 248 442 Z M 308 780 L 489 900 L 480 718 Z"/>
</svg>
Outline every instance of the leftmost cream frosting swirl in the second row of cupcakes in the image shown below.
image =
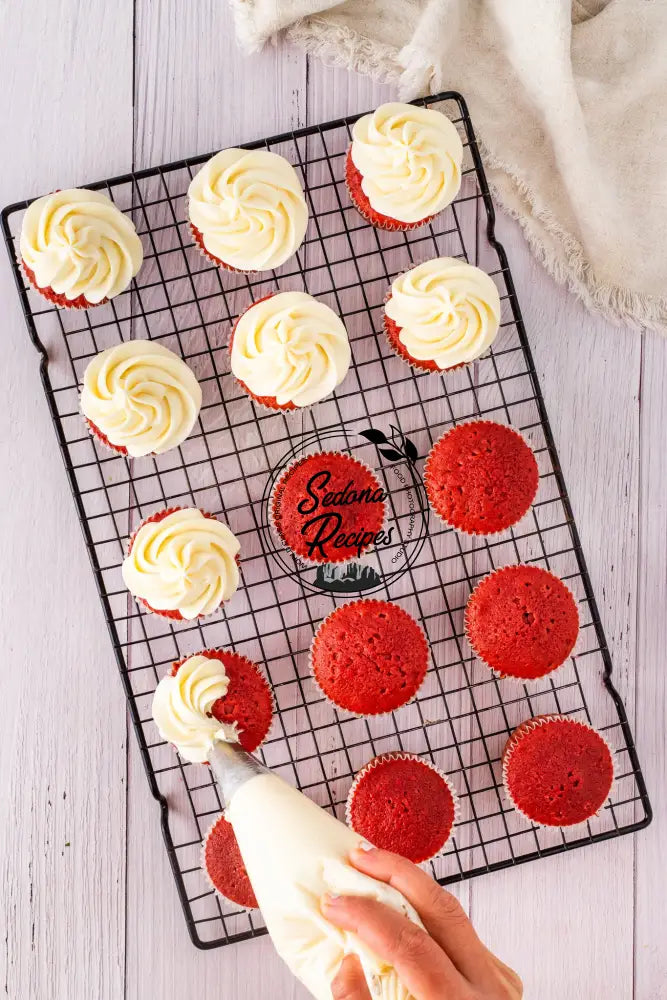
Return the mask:
<svg viewBox="0 0 667 1000">
<path fill-rule="evenodd" d="M 190 368 L 152 340 L 101 351 L 83 375 L 83 415 L 132 458 L 181 444 L 200 406 L 201 388 Z"/>
</svg>

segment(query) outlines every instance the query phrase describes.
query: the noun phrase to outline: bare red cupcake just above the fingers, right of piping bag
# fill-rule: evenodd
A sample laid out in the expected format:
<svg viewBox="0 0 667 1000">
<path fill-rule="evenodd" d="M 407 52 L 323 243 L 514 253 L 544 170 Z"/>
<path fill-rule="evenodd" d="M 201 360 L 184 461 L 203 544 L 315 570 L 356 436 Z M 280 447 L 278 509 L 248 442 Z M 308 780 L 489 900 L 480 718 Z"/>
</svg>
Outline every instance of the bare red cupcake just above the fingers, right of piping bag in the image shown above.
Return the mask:
<svg viewBox="0 0 667 1000">
<path fill-rule="evenodd" d="M 413 754 L 388 753 L 355 778 L 346 817 L 371 844 L 419 864 L 443 849 L 456 811 L 454 790 L 433 764 Z"/>
</svg>

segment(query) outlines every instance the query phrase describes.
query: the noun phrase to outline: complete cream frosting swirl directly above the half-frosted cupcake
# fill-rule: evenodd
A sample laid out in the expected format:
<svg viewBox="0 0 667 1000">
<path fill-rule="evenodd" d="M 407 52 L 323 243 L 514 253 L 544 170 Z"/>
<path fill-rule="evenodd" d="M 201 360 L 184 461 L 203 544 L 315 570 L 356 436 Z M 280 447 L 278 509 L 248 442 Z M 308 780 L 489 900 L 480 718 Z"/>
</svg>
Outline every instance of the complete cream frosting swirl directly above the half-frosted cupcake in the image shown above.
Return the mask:
<svg viewBox="0 0 667 1000">
<path fill-rule="evenodd" d="M 123 561 L 123 580 L 157 611 L 179 611 L 192 620 L 236 591 L 239 549 L 227 525 L 186 507 L 141 525 Z"/>
</svg>

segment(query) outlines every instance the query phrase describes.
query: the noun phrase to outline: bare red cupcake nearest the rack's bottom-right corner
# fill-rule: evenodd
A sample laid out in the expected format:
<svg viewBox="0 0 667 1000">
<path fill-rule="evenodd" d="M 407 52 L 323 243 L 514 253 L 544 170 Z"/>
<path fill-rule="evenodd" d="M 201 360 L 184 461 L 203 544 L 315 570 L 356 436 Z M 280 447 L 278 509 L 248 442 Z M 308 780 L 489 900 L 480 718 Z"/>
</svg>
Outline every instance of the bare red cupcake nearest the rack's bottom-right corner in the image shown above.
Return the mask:
<svg viewBox="0 0 667 1000">
<path fill-rule="evenodd" d="M 541 715 L 523 722 L 503 752 L 503 783 L 526 819 L 574 826 L 595 816 L 611 792 L 614 762 L 602 736 L 578 719 Z"/>
</svg>

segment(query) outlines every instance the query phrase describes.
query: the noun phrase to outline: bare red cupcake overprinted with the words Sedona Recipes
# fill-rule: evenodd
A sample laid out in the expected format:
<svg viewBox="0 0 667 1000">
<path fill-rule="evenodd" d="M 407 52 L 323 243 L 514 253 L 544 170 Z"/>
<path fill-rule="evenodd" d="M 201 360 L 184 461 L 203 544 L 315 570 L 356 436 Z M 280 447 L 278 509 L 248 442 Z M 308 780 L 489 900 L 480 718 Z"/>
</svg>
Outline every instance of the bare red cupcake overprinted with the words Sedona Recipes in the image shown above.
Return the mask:
<svg viewBox="0 0 667 1000">
<path fill-rule="evenodd" d="M 358 559 L 390 544 L 385 493 L 378 477 L 351 455 L 304 455 L 282 473 L 271 494 L 271 521 L 294 555 L 310 563 Z"/>
</svg>

